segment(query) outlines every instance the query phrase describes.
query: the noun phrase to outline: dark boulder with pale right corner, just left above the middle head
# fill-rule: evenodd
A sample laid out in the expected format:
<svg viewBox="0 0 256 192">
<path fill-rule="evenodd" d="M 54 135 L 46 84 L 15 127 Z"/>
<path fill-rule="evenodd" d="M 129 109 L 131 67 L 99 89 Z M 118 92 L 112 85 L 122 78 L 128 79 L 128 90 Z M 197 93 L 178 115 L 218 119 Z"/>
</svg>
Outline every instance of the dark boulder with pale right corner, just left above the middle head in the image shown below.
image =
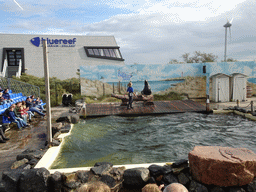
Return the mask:
<svg viewBox="0 0 256 192">
<path fill-rule="evenodd" d="M 145 185 L 150 177 L 149 170 L 147 168 L 133 168 L 126 169 L 124 171 L 123 184 L 127 187 L 141 187 Z"/>
</svg>

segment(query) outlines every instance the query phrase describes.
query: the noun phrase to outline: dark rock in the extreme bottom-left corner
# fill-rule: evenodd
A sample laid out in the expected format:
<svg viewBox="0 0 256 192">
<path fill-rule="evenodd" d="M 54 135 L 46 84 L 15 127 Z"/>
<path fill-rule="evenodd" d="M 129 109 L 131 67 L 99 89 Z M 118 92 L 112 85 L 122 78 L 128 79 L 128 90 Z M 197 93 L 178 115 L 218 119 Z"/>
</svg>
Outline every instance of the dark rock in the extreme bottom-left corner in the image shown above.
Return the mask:
<svg viewBox="0 0 256 192">
<path fill-rule="evenodd" d="M 6 191 L 18 191 L 19 180 L 24 171 L 27 172 L 30 170 L 14 169 L 10 171 L 4 171 L 2 173 L 2 180 L 4 181 Z"/>
</svg>

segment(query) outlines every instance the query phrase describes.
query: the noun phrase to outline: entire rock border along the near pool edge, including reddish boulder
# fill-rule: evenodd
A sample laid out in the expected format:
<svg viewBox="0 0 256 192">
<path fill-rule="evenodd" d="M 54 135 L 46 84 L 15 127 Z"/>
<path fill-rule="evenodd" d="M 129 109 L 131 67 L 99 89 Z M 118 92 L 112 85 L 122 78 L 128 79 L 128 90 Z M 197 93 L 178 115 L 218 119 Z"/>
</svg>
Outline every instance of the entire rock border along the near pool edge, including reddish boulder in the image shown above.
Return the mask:
<svg viewBox="0 0 256 192">
<path fill-rule="evenodd" d="M 35 151 L 17 156 L 25 163 L 4 171 L 1 192 L 12 191 L 76 191 L 85 183 L 101 181 L 111 191 L 141 191 L 149 183 L 180 183 L 191 192 L 255 192 L 256 154 L 248 149 L 197 146 L 189 153 L 189 162 L 182 159 L 164 166 L 150 165 L 125 169 L 99 162 L 89 171 L 54 174 L 45 168 L 31 169 L 31 160 L 40 158 Z M 28 163 L 30 162 L 30 163 Z"/>
</svg>

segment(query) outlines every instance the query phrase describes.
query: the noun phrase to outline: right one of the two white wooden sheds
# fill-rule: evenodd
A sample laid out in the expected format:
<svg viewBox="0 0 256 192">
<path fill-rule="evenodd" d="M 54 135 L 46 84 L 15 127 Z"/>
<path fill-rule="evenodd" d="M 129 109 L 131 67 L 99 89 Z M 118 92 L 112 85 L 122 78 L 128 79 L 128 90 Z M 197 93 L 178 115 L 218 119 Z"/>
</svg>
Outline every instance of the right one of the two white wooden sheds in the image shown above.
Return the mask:
<svg viewBox="0 0 256 192">
<path fill-rule="evenodd" d="M 246 100 L 247 76 L 242 73 L 233 73 L 230 78 L 230 92 L 233 101 Z"/>
</svg>

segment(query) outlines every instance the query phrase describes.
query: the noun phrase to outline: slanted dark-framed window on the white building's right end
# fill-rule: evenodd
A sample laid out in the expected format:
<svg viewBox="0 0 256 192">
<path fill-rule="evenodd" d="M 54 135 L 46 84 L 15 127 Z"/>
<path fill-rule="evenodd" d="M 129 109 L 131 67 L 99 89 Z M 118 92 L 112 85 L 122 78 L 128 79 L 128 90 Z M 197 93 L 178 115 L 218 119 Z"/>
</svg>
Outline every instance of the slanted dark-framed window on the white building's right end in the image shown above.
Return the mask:
<svg viewBox="0 0 256 192">
<path fill-rule="evenodd" d="M 124 61 L 119 47 L 84 47 L 87 57 Z"/>
</svg>

